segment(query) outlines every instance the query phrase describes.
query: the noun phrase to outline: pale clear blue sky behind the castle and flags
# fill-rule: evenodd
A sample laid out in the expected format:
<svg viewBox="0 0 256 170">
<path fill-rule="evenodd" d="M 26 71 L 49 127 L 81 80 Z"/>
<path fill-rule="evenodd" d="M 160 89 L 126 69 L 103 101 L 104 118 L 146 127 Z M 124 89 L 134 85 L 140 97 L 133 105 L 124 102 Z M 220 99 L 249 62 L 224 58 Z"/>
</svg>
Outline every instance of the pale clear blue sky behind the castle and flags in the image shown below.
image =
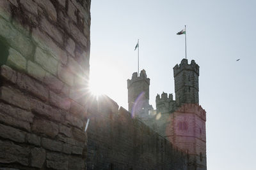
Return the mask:
<svg viewBox="0 0 256 170">
<path fill-rule="evenodd" d="M 200 66 L 199 102 L 207 111 L 207 169 L 255 169 L 255 0 L 92 0 L 90 72 L 95 90 L 127 109 L 127 79 L 140 69 L 156 95 L 174 94 L 173 67 Z M 241 59 L 236 61 L 236 59 Z"/>
</svg>

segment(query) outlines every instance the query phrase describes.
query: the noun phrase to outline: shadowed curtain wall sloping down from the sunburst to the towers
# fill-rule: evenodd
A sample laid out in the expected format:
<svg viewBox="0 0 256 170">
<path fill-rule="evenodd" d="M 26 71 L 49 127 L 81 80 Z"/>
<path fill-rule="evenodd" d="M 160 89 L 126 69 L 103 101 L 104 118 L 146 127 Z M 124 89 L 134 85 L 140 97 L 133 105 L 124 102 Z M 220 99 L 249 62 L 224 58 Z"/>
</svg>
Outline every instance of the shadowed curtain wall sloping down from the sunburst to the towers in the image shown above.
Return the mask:
<svg viewBox="0 0 256 170">
<path fill-rule="evenodd" d="M 187 169 L 186 153 L 108 97 L 90 105 L 88 118 L 88 169 Z"/>
</svg>

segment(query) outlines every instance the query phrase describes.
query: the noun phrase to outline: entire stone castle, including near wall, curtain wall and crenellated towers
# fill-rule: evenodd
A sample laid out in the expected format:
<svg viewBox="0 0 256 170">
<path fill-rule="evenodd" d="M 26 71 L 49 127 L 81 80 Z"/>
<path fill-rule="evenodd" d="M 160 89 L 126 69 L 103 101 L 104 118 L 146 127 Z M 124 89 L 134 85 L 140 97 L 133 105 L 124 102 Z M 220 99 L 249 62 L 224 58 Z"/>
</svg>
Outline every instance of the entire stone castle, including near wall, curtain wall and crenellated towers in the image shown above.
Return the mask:
<svg viewBox="0 0 256 170">
<path fill-rule="evenodd" d="M 0 1 L 0 169 L 206 169 L 199 67 L 175 66 L 148 103 L 145 71 L 129 111 L 90 96 L 90 0 Z M 148 114 L 149 113 L 149 114 Z"/>
</svg>

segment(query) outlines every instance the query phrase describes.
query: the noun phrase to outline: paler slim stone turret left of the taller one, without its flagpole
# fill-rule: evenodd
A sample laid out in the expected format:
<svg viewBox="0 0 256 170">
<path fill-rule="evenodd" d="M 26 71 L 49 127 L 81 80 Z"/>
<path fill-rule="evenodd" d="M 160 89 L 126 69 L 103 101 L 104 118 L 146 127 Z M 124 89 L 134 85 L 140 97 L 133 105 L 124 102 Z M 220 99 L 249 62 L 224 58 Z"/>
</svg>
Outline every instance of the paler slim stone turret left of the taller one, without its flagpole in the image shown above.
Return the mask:
<svg viewBox="0 0 256 170">
<path fill-rule="evenodd" d="M 152 109 L 149 104 L 150 79 L 147 78 L 143 69 L 138 73 L 133 73 L 131 80 L 127 80 L 129 111 L 135 117 L 148 118 L 148 111 Z"/>
</svg>

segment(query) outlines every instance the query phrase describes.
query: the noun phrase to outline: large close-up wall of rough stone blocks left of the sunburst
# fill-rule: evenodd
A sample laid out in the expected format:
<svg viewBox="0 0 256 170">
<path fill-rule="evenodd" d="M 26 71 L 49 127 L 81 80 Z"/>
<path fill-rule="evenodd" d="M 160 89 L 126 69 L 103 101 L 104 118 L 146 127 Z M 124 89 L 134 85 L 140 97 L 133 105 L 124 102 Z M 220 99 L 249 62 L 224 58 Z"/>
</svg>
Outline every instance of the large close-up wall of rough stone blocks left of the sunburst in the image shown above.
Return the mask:
<svg viewBox="0 0 256 170">
<path fill-rule="evenodd" d="M 85 169 L 90 0 L 0 1 L 0 169 Z"/>
</svg>

